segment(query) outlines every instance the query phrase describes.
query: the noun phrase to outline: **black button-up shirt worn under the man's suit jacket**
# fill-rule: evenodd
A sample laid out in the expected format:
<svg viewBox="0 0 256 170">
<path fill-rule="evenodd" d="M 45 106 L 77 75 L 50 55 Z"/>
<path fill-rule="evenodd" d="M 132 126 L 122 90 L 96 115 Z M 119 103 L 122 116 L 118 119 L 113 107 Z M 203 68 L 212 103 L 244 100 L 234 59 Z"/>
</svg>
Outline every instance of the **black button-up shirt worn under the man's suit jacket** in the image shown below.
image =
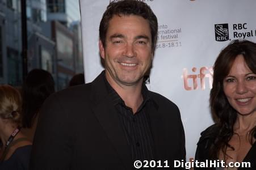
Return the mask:
<svg viewBox="0 0 256 170">
<path fill-rule="evenodd" d="M 133 114 L 132 108 L 125 105 L 123 99 L 110 86 L 106 78 L 105 80 L 128 145 L 131 148 L 132 160 L 154 160 L 154 144 L 147 112 L 154 105 L 148 96 L 148 89 L 145 85 L 142 86 L 143 102 L 137 112 Z"/>
</svg>

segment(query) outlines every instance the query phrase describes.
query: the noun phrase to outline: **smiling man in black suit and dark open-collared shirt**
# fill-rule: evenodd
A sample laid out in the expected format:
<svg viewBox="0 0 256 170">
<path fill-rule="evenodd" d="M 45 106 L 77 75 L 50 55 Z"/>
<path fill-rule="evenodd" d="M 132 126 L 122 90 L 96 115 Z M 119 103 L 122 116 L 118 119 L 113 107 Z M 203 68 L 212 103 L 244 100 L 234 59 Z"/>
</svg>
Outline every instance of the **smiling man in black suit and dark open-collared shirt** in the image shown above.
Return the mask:
<svg viewBox="0 0 256 170">
<path fill-rule="evenodd" d="M 110 3 L 99 27 L 106 70 L 93 82 L 57 92 L 45 102 L 31 169 L 166 169 L 185 159 L 178 107 L 143 83 L 157 28 L 146 3 Z M 147 164 L 150 160 L 156 165 Z"/>
</svg>

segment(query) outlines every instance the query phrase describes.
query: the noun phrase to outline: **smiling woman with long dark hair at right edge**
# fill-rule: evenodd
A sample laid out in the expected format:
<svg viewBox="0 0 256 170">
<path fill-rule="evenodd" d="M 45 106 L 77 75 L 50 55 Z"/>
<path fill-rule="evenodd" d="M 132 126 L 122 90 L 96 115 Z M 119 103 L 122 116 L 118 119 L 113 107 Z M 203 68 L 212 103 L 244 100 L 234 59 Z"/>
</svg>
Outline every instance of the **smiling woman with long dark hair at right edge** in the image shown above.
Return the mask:
<svg viewBox="0 0 256 170">
<path fill-rule="evenodd" d="M 250 162 L 256 169 L 256 44 L 234 40 L 221 51 L 213 71 L 210 107 L 217 122 L 201 133 L 195 160 Z"/>
</svg>

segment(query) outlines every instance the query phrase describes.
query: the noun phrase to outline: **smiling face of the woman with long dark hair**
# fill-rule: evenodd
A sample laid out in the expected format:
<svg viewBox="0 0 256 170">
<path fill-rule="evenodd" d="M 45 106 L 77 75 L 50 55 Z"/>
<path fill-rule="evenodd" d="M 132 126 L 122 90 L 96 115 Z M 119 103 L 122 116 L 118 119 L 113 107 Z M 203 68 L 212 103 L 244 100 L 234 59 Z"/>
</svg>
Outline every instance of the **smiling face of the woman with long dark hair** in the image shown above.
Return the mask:
<svg viewBox="0 0 256 170">
<path fill-rule="evenodd" d="M 244 56 L 238 55 L 223 80 L 224 93 L 234 109 L 241 115 L 256 112 L 256 74 L 246 65 Z"/>
</svg>

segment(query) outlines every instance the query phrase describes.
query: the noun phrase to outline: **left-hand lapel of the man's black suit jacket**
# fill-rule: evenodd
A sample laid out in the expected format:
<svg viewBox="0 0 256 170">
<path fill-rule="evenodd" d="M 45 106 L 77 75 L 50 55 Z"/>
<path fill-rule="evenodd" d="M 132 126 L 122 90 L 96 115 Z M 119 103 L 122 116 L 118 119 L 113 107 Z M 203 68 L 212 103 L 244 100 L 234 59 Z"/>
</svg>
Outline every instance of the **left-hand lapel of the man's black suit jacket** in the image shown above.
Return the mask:
<svg viewBox="0 0 256 170">
<path fill-rule="evenodd" d="M 121 162 L 127 169 L 131 169 L 133 163 L 131 151 L 128 148 L 127 139 L 111 97 L 104 86 L 104 72 L 93 82 L 91 100 L 95 103 L 93 111 L 98 118 L 100 125 L 110 139 L 112 146 L 116 150 Z"/>
</svg>

